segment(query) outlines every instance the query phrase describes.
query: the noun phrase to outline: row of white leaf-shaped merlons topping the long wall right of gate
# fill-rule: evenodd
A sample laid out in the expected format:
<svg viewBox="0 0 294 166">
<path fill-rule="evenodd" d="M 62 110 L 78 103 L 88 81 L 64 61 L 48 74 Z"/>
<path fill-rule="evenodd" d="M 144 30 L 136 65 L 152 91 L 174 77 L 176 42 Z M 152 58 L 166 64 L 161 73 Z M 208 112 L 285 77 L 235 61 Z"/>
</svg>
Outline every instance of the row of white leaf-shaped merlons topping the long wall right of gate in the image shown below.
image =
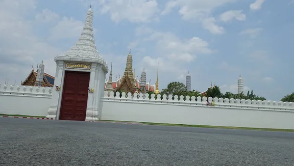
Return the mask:
<svg viewBox="0 0 294 166">
<path fill-rule="evenodd" d="M 160 102 L 160 103 L 172 103 L 172 104 L 185 104 L 185 105 L 197 105 L 202 104 L 204 106 L 215 106 L 215 107 L 227 107 L 228 109 L 231 107 L 241 107 L 245 109 L 267 109 L 267 110 L 287 110 L 287 111 L 294 111 L 294 102 L 281 102 L 281 101 L 261 101 L 261 100 L 245 100 L 245 99 L 228 99 L 228 98 L 212 98 L 212 97 L 203 97 L 200 96 L 195 97 L 186 96 L 184 100 L 184 96 L 177 96 L 177 95 L 162 95 L 157 94 L 137 94 L 134 93 L 134 97 L 131 96 L 131 93 L 126 94 L 125 92 L 122 93 L 122 97 L 120 97 L 120 92 L 116 92 L 116 96 L 114 92 L 108 93 L 107 91 L 104 92 L 104 99 L 126 99 L 127 101 L 132 100 L 142 100 L 149 102 Z M 137 101 L 136 101 L 137 102 Z"/>
</svg>

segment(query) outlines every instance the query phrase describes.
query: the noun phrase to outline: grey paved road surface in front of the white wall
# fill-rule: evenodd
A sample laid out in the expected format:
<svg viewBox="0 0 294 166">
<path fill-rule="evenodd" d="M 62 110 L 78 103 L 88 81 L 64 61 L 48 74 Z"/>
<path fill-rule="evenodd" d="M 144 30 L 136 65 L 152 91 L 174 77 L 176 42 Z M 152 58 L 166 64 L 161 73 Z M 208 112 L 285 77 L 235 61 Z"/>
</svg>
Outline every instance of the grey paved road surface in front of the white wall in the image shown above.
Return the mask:
<svg viewBox="0 0 294 166">
<path fill-rule="evenodd" d="M 294 133 L 0 117 L 0 166 L 294 166 Z"/>
</svg>

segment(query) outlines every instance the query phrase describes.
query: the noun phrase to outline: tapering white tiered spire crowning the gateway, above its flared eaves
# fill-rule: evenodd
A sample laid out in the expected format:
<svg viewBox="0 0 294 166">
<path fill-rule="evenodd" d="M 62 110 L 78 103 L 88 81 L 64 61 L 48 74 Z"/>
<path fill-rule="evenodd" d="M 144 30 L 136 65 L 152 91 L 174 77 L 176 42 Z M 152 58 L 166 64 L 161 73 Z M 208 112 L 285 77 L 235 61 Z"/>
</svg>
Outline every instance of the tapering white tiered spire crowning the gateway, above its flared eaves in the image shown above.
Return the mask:
<svg viewBox="0 0 294 166">
<path fill-rule="evenodd" d="M 99 56 L 93 34 L 93 11 L 91 7 L 92 5 L 87 11 L 85 25 L 77 43 L 65 55 Z"/>
</svg>

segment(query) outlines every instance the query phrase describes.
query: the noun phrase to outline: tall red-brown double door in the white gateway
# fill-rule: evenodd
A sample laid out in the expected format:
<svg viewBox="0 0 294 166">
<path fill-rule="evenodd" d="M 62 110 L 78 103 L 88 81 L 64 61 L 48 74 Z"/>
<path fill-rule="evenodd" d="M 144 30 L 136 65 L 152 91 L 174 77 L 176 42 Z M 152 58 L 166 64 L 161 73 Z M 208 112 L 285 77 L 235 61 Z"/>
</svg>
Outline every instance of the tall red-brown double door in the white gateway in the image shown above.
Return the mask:
<svg viewBox="0 0 294 166">
<path fill-rule="evenodd" d="M 65 71 L 60 120 L 85 121 L 90 72 Z"/>
</svg>

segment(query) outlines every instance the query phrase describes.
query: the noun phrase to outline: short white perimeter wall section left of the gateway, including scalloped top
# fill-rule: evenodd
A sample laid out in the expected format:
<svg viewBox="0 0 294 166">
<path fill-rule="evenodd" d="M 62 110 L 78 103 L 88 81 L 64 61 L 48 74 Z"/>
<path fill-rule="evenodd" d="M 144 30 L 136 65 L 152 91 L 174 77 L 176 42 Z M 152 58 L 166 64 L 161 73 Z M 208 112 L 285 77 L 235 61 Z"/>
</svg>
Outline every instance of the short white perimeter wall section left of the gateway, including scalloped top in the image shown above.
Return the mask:
<svg viewBox="0 0 294 166">
<path fill-rule="evenodd" d="M 52 88 L 0 85 L 0 113 L 46 116 Z"/>
</svg>

